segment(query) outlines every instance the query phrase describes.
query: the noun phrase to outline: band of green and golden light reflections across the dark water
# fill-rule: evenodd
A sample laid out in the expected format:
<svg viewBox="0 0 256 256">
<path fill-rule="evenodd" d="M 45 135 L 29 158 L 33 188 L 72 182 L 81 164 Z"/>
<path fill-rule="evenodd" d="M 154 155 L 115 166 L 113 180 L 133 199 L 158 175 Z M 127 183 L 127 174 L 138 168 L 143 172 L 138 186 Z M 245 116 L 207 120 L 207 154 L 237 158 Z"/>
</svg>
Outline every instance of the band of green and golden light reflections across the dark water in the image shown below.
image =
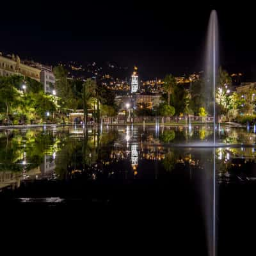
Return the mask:
<svg viewBox="0 0 256 256">
<path fill-rule="evenodd" d="M 212 156 L 200 147 L 211 147 L 212 136 L 210 125 L 91 127 L 86 134 L 83 127 L 6 130 L 0 133 L 0 188 L 18 188 L 28 179 L 73 179 L 84 172 L 83 179 L 94 180 L 171 179 L 170 172 L 182 165 L 205 168 Z M 220 184 L 253 180 L 255 140 L 253 129 L 218 129 Z M 154 168 L 157 175 L 149 175 Z"/>
</svg>

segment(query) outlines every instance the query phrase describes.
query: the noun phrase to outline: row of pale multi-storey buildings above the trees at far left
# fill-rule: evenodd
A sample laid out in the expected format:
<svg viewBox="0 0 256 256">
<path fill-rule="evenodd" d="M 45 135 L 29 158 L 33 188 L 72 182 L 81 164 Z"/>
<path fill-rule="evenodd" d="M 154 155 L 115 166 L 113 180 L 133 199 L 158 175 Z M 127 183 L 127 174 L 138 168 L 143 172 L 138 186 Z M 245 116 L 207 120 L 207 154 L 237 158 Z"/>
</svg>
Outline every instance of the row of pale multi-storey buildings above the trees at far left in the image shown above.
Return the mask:
<svg viewBox="0 0 256 256">
<path fill-rule="evenodd" d="M 45 93 L 52 93 L 55 77 L 52 67 L 34 61 L 20 61 L 19 56 L 3 56 L 0 52 L 0 76 L 26 76 L 35 79 L 44 86 Z"/>
</svg>

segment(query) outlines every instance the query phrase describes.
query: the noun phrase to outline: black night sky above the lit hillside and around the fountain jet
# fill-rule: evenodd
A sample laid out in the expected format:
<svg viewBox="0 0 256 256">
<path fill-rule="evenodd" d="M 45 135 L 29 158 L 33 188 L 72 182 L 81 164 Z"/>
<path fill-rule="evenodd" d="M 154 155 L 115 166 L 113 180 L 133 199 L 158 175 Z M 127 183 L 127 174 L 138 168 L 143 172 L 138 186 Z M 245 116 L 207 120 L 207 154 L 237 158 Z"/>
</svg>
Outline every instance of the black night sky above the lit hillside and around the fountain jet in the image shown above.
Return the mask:
<svg viewBox="0 0 256 256">
<path fill-rule="evenodd" d="M 144 78 L 197 72 L 213 8 L 220 22 L 221 65 L 256 81 L 254 8 L 241 3 L 222 8 L 161 0 L 1 3 L 0 51 L 49 64 L 136 64 Z"/>
</svg>

